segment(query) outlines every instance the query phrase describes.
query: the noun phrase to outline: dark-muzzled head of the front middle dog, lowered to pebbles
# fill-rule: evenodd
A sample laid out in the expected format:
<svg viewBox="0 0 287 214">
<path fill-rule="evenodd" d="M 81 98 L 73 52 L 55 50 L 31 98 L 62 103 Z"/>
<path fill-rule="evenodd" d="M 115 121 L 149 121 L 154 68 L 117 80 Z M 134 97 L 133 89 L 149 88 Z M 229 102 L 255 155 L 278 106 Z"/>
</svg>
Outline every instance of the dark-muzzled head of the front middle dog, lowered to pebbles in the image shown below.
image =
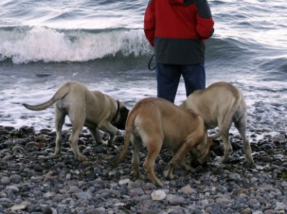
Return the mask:
<svg viewBox="0 0 287 214">
<path fill-rule="evenodd" d="M 193 155 L 193 159 L 191 159 L 191 164 L 205 164 L 207 160 L 210 157 L 210 151 L 214 151 L 214 153 L 218 156 L 223 156 L 224 152 L 222 148 L 220 148 L 220 142 L 211 140 L 207 138 L 207 143 L 206 144 L 200 144 L 198 153 L 199 154 L 194 154 L 194 152 L 191 152 Z"/>
</svg>

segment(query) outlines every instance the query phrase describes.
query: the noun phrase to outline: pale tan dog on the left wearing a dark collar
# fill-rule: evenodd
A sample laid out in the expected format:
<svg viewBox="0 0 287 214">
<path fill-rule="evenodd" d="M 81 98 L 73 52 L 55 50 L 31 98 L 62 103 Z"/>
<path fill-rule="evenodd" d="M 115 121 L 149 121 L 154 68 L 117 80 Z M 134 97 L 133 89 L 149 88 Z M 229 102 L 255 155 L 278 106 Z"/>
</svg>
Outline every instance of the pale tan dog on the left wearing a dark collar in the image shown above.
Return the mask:
<svg viewBox="0 0 287 214">
<path fill-rule="evenodd" d="M 117 128 L 124 129 L 129 110 L 123 102 L 99 91 L 88 90 L 78 81 L 63 84 L 49 101 L 37 106 L 23 104 L 30 110 L 44 110 L 54 104 L 55 130 L 57 133 L 55 157 L 61 155 L 61 131 L 64 118 L 69 115 L 73 126 L 69 143 L 79 161 L 85 159 L 78 150 L 78 137 L 83 126 L 87 126 L 96 143 L 104 144 L 99 130 L 110 134 L 108 144 L 114 142 Z"/>
</svg>

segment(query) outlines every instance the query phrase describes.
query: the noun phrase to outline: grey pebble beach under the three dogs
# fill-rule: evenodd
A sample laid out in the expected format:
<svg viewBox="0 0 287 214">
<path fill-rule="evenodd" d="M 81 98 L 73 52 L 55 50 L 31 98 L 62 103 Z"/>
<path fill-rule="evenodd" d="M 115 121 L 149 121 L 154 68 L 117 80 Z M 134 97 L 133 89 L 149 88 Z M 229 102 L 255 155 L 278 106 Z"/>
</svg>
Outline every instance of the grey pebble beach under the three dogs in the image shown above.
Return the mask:
<svg viewBox="0 0 287 214">
<path fill-rule="evenodd" d="M 95 144 L 83 129 L 79 148 L 84 162 L 71 152 L 70 133 L 69 128 L 62 131 L 62 157 L 53 159 L 53 130 L 0 126 L 0 213 L 287 213 L 286 133 L 253 130 L 251 135 L 262 136 L 250 141 L 253 166 L 244 163 L 239 135 L 230 133 L 233 153 L 228 163 L 211 153 L 207 164 L 191 172 L 175 168 L 173 180 L 162 175 L 171 160 L 163 146 L 155 164 L 162 188 L 148 177 L 134 179 L 132 148 L 112 168 L 124 133 L 109 147 Z M 142 147 L 141 164 L 145 157 Z M 141 172 L 146 175 L 142 166 Z"/>
</svg>

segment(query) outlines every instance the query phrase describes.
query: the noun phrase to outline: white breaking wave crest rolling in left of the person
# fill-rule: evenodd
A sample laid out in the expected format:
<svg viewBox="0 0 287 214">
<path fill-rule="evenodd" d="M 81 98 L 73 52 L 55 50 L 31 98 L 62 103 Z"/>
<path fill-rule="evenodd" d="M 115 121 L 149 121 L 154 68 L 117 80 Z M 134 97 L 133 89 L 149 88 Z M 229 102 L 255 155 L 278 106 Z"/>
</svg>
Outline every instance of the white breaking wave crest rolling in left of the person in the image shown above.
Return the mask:
<svg viewBox="0 0 287 214">
<path fill-rule="evenodd" d="M 149 55 L 153 50 L 142 29 L 54 30 L 51 28 L 0 29 L 0 60 L 14 64 L 35 61 L 89 61 L 120 53 Z"/>
</svg>

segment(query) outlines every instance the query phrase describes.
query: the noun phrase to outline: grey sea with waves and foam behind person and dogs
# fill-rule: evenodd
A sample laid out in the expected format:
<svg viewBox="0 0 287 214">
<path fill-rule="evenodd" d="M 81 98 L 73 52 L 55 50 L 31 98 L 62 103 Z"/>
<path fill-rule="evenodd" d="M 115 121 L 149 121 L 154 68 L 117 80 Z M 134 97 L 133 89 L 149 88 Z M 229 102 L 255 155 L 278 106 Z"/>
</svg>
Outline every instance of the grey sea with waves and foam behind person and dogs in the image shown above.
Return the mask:
<svg viewBox="0 0 287 214">
<path fill-rule="evenodd" d="M 125 102 L 156 96 L 143 33 L 148 0 L 0 1 L 0 124 L 54 129 L 53 108 L 33 112 L 78 80 Z M 209 0 L 207 86 L 230 82 L 247 101 L 247 133 L 287 131 L 287 1 Z M 181 82 L 175 104 L 186 99 Z M 67 118 L 67 123 L 69 119 Z"/>
</svg>

